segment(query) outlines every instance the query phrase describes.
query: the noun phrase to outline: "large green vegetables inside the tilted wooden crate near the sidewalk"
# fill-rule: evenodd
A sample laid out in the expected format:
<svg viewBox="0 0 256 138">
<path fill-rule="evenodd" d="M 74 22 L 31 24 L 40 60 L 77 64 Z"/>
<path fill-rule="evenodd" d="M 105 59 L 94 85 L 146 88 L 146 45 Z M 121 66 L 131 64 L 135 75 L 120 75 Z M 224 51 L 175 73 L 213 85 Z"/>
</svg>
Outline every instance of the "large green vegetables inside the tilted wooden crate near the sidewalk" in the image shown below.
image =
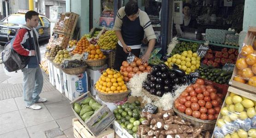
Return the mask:
<svg viewBox="0 0 256 138">
<path fill-rule="evenodd" d="M 81 103 L 74 103 L 74 110 L 83 121 L 87 121 L 100 107 L 101 105 L 91 97 L 85 98 Z M 101 118 L 104 118 L 104 115 Z"/>
</svg>

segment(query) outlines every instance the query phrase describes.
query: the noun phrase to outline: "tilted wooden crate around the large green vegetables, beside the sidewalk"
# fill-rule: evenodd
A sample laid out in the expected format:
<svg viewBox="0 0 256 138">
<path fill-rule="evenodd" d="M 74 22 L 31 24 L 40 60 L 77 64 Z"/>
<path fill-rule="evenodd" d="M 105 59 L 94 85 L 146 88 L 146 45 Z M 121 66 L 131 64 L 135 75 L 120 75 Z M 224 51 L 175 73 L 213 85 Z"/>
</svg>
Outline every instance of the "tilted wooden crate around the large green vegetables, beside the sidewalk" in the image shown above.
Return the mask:
<svg viewBox="0 0 256 138">
<path fill-rule="evenodd" d="M 96 102 L 100 104 L 100 102 L 96 100 L 88 91 L 82 94 L 80 97 L 73 100 L 72 102 L 70 102 L 70 105 L 76 117 L 87 128 L 87 130 L 90 133 L 92 133 L 93 136 L 98 136 L 100 132 L 102 132 L 112 124 L 112 122 L 115 120 L 115 115 L 111 112 L 111 110 L 105 104 L 103 104 L 97 111 L 94 112 L 94 114 L 87 121 L 83 121 L 81 117 L 74 110 L 74 103 L 80 103 L 83 99 L 87 97 L 93 98 Z M 103 119 L 101 119 L 97 124 L 93 125 L 95 122 L 97 122 L 100 119 L 102 115 L 104 115 L 105 112 L 107 112 L 108 114 Z"/>
</svg>

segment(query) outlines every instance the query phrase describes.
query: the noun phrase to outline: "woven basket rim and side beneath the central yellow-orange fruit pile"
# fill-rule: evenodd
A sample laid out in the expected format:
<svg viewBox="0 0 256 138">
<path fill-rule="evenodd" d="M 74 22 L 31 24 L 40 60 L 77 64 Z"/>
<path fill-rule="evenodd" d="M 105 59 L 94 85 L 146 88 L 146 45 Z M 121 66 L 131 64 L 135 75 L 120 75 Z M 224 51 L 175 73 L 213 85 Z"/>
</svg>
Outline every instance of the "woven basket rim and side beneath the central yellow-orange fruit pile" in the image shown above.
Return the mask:
<svg viewBox="0 0 256 138">
<path fill-rule="evenodd" d="M 99 96 L 99 98 L 105 102 L 109 102 L 109 103 L 116 103 L 116 102 L 119 102 L 119 101 L 122 101 L 123 99 L 125 99 L 130 90 L 128 89 L 127 92 L 121 92 L 121 93 L 110 93 L 110 94 L 107 94 L 107 93 L 102 93 L 102 92 L 99 92 L 96 88 L 94 88 Z"/>
</svg>

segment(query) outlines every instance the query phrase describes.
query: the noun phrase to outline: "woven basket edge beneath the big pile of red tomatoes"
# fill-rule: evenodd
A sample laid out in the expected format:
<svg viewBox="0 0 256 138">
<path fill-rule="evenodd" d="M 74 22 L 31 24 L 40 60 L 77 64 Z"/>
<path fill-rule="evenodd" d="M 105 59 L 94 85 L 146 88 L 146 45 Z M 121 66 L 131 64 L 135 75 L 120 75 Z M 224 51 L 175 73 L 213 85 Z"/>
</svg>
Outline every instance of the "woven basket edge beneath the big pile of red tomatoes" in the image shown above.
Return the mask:
<svg viewBox="0 0 256 138">
<path fill-rule="evenodd" d="M 203 131 L 213 131 L 214 127 L 215 127 L 215 123 L 216 120 L 211 121 L 211 120 L 201 120 L 201 119 L 197 119 L 194 118 L 190 115 L 186 115 L 184 113 L 181 113 L 178 109 L 176 109 L 175 107 L 173 107 L 173 110 L 175 111 L 175 113 L 180 116 L 181 118 L 183 118 L 185 121 L 190 122 L 193 126 L 195 127 L 202 127 Z"/>
</svg>

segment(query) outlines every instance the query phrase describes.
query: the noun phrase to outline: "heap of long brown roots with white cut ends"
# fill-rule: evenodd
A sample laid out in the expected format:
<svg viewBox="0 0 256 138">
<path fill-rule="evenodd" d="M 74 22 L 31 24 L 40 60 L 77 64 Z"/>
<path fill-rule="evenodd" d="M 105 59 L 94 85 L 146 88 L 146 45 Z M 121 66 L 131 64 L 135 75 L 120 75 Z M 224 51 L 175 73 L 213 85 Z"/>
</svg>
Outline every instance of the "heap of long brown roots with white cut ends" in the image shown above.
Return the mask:
<svg viewBox="0 0 256 138">
<path fill-rule="evenodd" d="M 180 116 L 174 115 L 173 110 L 163 110 L 157 114 L 141 112 L 141 121 L 137 130 L 137 138 L 203 138 L 201 127 L 193 127 Z M 204 138 L 210 138 L 209 132 Z"/>
</svg>

